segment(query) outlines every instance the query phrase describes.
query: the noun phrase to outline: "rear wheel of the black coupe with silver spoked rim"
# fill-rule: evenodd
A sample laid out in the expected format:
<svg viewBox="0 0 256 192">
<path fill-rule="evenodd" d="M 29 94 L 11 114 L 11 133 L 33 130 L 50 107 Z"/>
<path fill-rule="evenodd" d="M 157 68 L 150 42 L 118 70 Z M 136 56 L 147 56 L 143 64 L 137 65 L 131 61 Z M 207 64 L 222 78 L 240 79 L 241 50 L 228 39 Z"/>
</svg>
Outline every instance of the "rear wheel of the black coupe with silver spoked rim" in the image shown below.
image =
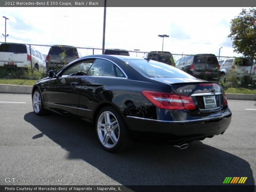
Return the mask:
<svg viewBox="0 0 256 192">
<path fill-rule="evenodd" d="M 108 119 L 107 122 L 105 122 L 106 118 Z M 106 151 L 120 152 L 132 146 L 133 140 L 127 125 L 114 107 L 107 106 L 100 110 L 95 127 L 100 145 Z"/>
</svg>

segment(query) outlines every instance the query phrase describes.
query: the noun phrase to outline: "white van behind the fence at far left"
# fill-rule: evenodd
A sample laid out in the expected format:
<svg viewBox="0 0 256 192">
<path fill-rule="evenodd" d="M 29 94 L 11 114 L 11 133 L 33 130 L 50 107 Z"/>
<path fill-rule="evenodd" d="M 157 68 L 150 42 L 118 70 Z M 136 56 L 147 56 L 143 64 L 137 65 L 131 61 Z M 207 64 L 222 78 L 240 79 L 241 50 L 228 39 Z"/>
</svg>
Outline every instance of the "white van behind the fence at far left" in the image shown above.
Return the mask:
<svg viewBox="0 0 256 192">
<path fill-rule="evenodd" d="M 31 50 L 31 54 L 30 54 Z M 0 44 L 0 67 L 45 69 L 44 62 L 37 57 L 36 50 L 27 44 Z"/>
</svg>

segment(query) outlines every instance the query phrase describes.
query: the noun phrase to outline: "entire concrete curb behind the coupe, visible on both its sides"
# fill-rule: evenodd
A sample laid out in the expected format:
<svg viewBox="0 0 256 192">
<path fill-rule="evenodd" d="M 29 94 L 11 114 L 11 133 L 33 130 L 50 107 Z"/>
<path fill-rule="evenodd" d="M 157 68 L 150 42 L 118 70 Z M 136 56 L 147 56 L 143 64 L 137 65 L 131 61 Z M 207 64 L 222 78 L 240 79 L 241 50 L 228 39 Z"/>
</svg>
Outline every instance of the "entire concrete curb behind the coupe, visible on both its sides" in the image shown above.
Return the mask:
<svg viewBox="0 0 256 192">
<path fill-rule="evenodd" d="M 23 93 L 31 94 L 33 86 L 0 84 L 0 93 Z M 255 100 L 255 94 L 226 93 L 227 99 Z"/>
</svg>

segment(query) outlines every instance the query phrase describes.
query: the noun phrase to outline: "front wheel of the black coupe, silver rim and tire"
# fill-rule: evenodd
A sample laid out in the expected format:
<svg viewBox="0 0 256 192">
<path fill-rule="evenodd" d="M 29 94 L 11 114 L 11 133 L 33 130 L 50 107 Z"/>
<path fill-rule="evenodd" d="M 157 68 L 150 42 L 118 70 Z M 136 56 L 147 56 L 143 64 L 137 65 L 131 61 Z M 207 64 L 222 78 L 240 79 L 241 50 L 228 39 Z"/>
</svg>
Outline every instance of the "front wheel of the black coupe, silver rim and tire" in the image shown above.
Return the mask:
<svg viewBox="0 0 256 192">
<path fill-rule="evenodd" d="M 44 108 L 44 102 L 39 89 L 35 89 L 32 94 L 32 106 L 36 115 L 42 116 L 46 114 L 46 109 Z"/>
</svg>

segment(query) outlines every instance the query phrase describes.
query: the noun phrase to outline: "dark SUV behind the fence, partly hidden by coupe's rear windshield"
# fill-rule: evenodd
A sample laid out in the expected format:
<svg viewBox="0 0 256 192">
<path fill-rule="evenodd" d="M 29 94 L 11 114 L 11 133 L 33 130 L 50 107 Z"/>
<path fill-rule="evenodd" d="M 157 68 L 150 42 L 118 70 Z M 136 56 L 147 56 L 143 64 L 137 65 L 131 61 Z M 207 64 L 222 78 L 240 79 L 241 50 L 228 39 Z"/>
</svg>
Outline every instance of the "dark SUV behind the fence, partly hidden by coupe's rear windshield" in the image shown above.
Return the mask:
<svg viewBox="0 0 256 192">
<path fill-rule="evenodd" d="M 175 66 L 172 53 L 168 51 L 151 51 L 146 53 L 144 58 Z"/>
</svg>

